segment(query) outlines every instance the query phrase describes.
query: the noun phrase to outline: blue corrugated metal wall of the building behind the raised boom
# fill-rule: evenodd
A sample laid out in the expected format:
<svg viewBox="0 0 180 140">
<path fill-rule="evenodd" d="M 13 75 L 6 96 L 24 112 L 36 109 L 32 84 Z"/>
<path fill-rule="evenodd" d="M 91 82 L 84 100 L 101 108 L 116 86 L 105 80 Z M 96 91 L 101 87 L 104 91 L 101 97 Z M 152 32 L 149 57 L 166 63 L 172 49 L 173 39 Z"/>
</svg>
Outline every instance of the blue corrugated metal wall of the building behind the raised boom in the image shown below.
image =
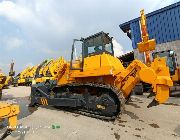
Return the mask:
<svg viewBox="0 0 180 140">
<path fill-rule="evenodd" d="M 157 44 L 180 40 L 180 2 L 146 15 L 149 38 Z M 141 41 L 139 18 L 120 24 L 119 27 L 132 40 L 133 49 Z"/>
</svg>

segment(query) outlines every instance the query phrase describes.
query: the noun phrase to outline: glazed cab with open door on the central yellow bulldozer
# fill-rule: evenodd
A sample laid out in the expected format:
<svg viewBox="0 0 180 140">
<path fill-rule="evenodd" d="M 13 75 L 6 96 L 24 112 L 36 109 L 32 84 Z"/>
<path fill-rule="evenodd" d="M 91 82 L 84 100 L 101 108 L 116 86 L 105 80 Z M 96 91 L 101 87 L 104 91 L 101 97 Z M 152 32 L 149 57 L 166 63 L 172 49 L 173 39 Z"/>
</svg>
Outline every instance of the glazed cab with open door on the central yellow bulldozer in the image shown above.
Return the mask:
<svg viewBox="0 0 180 140">
<path fill-rule="evenodd" d="M 80 40 L 74 39 L 70 69 L 83 70 L 84 58 L 103 53 L 114 56 L 112 37 L 109 37 L 108 33 L 99 32 L 87 38 L 81 38 Z M 79 61 L 81 62 L 80 66 L 75 65 L 76 62 L 79 64 Z"/>
</svg>

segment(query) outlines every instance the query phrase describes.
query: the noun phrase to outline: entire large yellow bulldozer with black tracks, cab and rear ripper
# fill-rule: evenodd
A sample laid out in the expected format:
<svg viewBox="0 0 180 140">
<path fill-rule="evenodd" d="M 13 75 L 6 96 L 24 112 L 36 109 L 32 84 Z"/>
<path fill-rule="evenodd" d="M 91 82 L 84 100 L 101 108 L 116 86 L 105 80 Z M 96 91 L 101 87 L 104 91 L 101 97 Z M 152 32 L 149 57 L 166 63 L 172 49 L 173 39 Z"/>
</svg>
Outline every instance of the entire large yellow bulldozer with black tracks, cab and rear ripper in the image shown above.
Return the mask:
<svg viewBox="0 0 180 140">
<path fill-rule="evenodd" d="M 77 57 L 77 50 L 80 50 Z M 51 81 L 31 87 L 30 106 L 60 106 L 101 119 L 115 119 L 137 83 L 151 84 L 155 94 L 148 105 L 164 103 L 173 85 L 165 58 L 156 58 L 150 66 L 139 60 L 124 68 L 114 57 L 112 37 L 100 32 L 74 39 L 70 62 L 62 61 Z"/>
</svg>

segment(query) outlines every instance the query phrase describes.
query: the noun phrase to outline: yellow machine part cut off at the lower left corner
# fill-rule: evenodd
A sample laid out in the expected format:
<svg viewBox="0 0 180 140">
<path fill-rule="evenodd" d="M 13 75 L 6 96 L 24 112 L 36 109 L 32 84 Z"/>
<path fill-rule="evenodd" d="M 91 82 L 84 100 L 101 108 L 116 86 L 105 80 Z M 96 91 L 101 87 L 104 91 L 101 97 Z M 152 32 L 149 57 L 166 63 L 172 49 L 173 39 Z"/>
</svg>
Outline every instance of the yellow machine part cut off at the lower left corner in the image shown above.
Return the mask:
<svg viewBox="0 0 180 140">
<path fill-rule="evenodd" d="M 0 137 L 0 140 L 5 139 L 17 126 L 17 115 L 19 114 L 18 105 L 10 105 L 7 103 L 0 103 L 0 121 L 8 118 L 9 126 L 6 132 Z"/>
</svg>

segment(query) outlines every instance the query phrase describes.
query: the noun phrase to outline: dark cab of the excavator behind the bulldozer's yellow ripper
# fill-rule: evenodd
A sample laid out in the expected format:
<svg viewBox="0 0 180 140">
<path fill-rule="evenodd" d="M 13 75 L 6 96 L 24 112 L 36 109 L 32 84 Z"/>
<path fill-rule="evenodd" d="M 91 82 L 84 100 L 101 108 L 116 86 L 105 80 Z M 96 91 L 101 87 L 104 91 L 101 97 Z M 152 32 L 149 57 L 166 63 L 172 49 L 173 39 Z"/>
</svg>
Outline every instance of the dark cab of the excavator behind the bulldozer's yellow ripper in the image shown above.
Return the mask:
<svg viewBox="0 0 180 140">
<path fill-rule="evenodd" d="M 153 59 L 157 57 L 166 57 L 166 64 L 169 67 L 170 74 L 171 75 L 175 74 L 176 59 L 175 59 L 175 53 L 173 50 L 154 52 L 152 53 L 152 56 L 153 56 Z"/>
</svg>

